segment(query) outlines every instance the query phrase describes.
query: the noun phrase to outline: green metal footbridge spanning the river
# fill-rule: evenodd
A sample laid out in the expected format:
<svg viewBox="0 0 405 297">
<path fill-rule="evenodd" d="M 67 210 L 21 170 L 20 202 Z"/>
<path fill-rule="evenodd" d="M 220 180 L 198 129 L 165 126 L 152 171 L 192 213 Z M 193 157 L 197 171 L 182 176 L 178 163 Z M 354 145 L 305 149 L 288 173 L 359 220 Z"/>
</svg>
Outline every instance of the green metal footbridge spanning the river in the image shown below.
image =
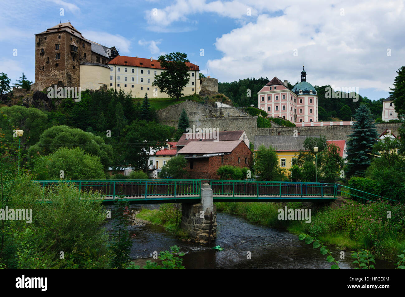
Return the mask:
<svg viewBox="0 0 405 297">
<path fill-rule="evenodd" d="M 80 191 L 96 192 L 105 204 L 117 200 L 130 204 L 181 203 L 201 201 L 201 184 L 208 183 L 214 202 L 298 202 L 334 201 L 339 196 L 363 201 L 389 198 L 349 188 L 339 184 L 308 182 L 261 182 L 241 180 L 201 179 L 81 179 L 35 180 L 49 187 L 74 184 Z"/>
</svg>

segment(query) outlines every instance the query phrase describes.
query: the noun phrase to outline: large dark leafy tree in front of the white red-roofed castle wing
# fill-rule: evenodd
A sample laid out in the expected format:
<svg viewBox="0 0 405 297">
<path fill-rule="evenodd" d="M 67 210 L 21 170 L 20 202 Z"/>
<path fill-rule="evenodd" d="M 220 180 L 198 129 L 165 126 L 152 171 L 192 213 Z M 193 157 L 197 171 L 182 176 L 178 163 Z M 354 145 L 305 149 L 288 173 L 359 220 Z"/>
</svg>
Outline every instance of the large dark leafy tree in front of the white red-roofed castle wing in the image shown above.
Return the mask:
<svg viewBox="0 0 405 297">
<path fill-rule="evenodd" d="M 155 81 L 152 85 L 156 85 L 161 92 L 168 94 L 171 98 L 177 100 L 184 95 L 182 92 L 187 85 L 190 74 L 190 67 L 185 64 L 190 62 L 185 53 L 168 53 L 158 58 L 163 72 L 155 75 Z"/>
</svg>

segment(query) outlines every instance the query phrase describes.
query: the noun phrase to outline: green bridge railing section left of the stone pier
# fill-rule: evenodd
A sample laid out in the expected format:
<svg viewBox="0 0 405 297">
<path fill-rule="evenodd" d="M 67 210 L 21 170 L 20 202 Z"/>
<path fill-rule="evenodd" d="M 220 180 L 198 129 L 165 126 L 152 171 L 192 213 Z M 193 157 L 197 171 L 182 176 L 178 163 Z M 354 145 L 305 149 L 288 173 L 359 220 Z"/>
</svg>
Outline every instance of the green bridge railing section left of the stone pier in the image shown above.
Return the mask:
<svg viewBox="0 0 405 297">
<path fill-rule="evenodd" d="M 200 179 L 56 179 L 34 182 L 43 187 L 71 183 L 81 191 L 99 192 L 105 199 L 119 196 L 132 199 L 201 197 Z"/>
</svg>

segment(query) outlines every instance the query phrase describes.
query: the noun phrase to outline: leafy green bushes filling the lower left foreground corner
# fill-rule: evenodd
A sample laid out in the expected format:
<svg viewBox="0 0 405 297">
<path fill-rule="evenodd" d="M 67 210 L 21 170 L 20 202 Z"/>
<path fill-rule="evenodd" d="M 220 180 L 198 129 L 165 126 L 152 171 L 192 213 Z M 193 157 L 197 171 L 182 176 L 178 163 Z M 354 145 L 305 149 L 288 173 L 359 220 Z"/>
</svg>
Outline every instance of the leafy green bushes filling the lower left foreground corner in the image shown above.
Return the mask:
<svg viewBox="0 0 405 297">
<path fill-rule="evenodd" d="M 110 267 L 106 216 L 95 195 L 68 184 L 43 189 L 28 176 L 2 183 L 2 193 L 0 208 L 32 209 L 31 223 L 2 220 L 3 268 Z M 43 199 L 52 203 L 38 203 Z"/>
</svg>

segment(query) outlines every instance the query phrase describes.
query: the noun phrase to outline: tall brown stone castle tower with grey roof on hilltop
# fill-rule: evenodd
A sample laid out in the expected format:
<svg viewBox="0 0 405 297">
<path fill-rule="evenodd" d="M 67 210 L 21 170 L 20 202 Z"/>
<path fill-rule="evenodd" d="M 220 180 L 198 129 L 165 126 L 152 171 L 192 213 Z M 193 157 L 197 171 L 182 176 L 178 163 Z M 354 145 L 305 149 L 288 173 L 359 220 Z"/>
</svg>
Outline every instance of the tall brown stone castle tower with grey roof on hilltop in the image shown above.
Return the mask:
<svg viewBox="0 0 405 297">
<path fill-rule="evenodd" d="M 102 70 L 107 73 L 109 66 L 106 64 L 118 55 L 115 47 L 104 47 L 84 38 L 70 22 L 58 24 L 35 34 L 35 83 L 32 89 L 43 90 L 55 84 L 79 87 L 82 65 L 87 66 L 84 69 L 88 77 L 103 68 L 107 68 Z M 98 88 L 98 81 L 95 83 Z"/>
</svg>

